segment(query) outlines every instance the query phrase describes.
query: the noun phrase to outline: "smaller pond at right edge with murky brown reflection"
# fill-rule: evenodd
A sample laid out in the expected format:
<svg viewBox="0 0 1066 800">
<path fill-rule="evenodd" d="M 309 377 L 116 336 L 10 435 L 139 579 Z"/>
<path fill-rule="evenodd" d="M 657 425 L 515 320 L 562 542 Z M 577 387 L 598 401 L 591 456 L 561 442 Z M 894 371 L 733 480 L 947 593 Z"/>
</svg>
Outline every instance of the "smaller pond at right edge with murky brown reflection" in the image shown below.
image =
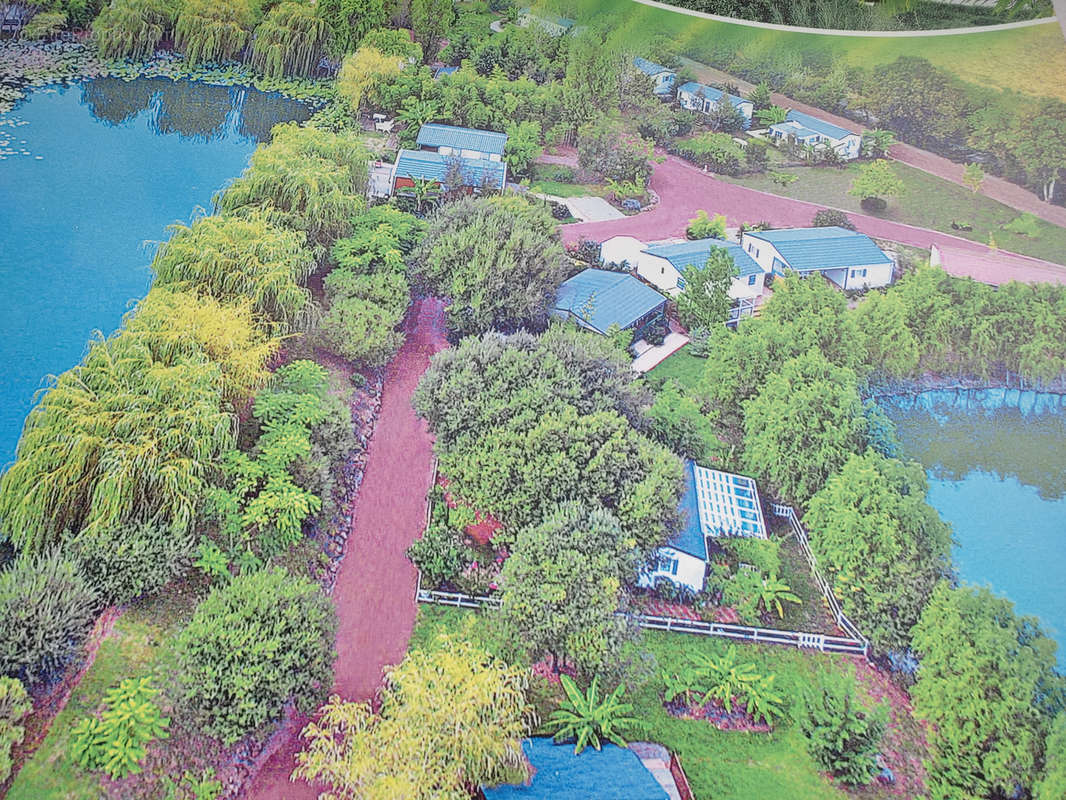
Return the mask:
<svg viewBox="0 0 1066 800">
<path fill-rule="evenodd" d="M 990 389 L 881 402 L 954 529 L 959 576 L 1066 646 L 1066 398 Z"/>
</svg>

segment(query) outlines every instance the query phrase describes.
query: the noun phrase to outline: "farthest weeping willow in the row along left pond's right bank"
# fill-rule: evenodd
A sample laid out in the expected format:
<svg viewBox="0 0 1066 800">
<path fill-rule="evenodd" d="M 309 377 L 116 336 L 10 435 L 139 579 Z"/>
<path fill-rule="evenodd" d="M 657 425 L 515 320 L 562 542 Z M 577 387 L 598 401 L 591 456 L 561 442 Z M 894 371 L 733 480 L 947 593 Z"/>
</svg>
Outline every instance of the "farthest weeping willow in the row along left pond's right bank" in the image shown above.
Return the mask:
<svg viewBox="0 0 1066 800">
<path fill-rule="evenodd" d="M 215 196 L 215 205 L 223 213 L 265 212 L 325 246 L 348 236 L 351 219 L 366 207 L 368 158 L 355 133 L 278 125 L 274 141 L 252 155 L 248 169 Z"/>
</svg>

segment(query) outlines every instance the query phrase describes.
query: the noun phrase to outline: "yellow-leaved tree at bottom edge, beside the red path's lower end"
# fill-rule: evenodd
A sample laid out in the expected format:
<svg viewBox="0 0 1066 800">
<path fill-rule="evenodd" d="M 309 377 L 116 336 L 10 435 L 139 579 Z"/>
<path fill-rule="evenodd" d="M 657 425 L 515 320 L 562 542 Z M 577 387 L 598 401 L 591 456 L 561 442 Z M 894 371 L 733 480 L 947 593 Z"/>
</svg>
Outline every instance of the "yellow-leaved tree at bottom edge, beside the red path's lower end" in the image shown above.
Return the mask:
<svg viewBox="0 0 1066 800">
<path fill-rule="evenodd" d="M 466 800 L 469 785 L 521 781 L 528 683 L 527 671 L 441 636 L 387 671 L 379 714 L 333 695 L 304 730 L 295 774 L 365 800 Z"/>
</svg>

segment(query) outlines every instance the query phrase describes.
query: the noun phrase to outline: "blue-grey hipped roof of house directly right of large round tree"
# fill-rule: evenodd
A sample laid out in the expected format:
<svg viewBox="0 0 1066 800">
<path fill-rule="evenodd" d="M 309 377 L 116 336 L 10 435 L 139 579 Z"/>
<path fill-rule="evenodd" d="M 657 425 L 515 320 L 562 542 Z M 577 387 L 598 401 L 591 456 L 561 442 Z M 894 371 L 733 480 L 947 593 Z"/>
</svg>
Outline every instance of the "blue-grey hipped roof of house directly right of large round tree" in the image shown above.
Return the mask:
<svg viewBox="0 0 1066 800">
<path fill-rule="evenodd" d="M 607 270 L 583 270 L 564 281 L 555 294 L 556 310 L 572 314 L 600 333 L 612 324 L 629 327 L 665 303 L 666 298 L 632 275 Z"/>
</svg>

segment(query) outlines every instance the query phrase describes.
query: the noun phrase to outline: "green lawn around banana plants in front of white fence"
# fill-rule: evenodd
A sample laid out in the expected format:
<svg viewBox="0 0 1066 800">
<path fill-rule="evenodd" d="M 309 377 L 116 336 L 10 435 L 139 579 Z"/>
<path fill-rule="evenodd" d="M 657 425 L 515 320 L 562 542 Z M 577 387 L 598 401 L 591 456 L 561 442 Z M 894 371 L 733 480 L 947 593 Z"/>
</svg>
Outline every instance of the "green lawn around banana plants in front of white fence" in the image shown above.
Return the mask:
<svg viewBox="0 0 1066 800">
<path fill-rule="evenodd" d="M 411 635 L 411 646 L 431 640 L 440 630 L 464 635 L 504 658 L 513 658 L 514 643 L 486 624 L 485 613 L 453 608 L 421 606 Z M 681 634 L 645 631 L 639 644 L 645 654 L 640 662 L 643 679 L 631 688 L 629 701 L 647 727 L 641 739 L 658 741 L 678 753 L 697 798 L 714 800 L 829 800 L 846 798 L 819 771 L 808 755 L 803 735 L 789 721 L 779 722 L 772 734 L 718 731 L 708 722 L 671 716 L 662 705 L 663 671 L 676 671 L 695 653 L 723 653 L 729 642 Z M 794 698 L 820 669 L 846 669 L 847 659 L 788 647 L 736 645 L 761 672 L 773 673 L 786 697 Z M 650 656 L 650 660 L 648 659 Z M 538 698 L 544 707 L 543 698 Z M 870 787 L 863 798 L 890 798 L 887 789 Z"/>
</svg>

